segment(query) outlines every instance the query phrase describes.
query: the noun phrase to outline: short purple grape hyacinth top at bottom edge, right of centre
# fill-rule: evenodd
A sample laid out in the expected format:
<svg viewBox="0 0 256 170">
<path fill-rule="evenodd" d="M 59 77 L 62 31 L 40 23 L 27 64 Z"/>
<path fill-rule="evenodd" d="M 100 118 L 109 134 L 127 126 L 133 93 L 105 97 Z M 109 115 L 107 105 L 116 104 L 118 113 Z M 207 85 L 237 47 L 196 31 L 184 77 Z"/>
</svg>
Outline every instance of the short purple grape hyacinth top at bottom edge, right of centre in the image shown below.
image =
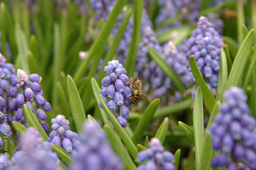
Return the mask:
<svg viewBox="0 0 256 170">
<path fill-rule="evenodd" d="M 176 170 L 174 166 L 174 155 L 164 150 L 161 141 L 158 138 L 152 138 L 148 143 L 149 149 L 142 150 L 137 154 L 136 161 L 143 163 L 147 161 L 146 164 L 138 166 L 137 170 L 146 169 L 164 169 L 164 170 Z"/>
</svg>

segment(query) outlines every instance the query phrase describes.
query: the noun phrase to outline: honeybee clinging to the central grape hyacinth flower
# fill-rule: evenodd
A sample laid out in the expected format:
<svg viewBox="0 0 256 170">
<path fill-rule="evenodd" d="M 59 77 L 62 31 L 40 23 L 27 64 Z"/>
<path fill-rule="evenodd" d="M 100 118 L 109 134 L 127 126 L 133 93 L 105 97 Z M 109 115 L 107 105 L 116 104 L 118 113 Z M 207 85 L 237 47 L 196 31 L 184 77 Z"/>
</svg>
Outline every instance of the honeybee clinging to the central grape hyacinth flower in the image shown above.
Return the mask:
<svg viewBox="0 0 256 170">
<path fill-rule="evenodd" d="M 129 97 L 132 97 L 130 100 L 130 104 L 134 104 L 140 97 L 141 94 L 146 95 L 146 93 L 144 92 L 143 88 L 141 87 L 141 81 L 138 79 L 137 76 L 131 76 L 132 78 L 129 77 L 129 81 L 126 80 L 127 82 L 129 82 L 128 84 L 131 84 L 130 87 L 132 88 L 132 95 Z"/>
</svg>

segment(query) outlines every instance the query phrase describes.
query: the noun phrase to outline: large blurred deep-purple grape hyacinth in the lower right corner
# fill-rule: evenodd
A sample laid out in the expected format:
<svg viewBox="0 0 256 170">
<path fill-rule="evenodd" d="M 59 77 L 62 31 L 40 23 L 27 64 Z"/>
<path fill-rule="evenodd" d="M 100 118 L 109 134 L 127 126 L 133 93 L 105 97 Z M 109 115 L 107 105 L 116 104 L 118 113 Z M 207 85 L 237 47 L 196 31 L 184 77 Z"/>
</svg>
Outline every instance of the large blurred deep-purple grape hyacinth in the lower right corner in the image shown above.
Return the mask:
<svg viewBox="0 0 256 170">
<path fill-rule="evenodd" d="M 247 96 L 240 87 L 223 93 L 225 103 L 210 125 L 211 143 L 220 153 L 212 158 L 212 167 L 256 169 L 256 120 L 250 116 Z"/>
</svg>

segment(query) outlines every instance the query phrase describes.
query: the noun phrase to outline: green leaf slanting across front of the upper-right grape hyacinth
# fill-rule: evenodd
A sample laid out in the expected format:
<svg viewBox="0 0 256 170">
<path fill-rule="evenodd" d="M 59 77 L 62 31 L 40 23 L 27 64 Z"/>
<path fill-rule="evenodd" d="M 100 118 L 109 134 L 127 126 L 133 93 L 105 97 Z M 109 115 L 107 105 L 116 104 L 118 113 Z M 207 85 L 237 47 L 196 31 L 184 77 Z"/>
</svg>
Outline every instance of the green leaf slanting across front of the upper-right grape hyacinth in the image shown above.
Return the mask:
<svg viewBox="0 0 256 170">
<path fill-rule="evenodd" d="M 204 98 L 204 101 L 205 101 L 205 106 L 206 106 L 207 110 L 209 112 L 211 112 L 212 108 L 215 105 L 215 99 L 214 99 L 214 96 L 211 93 L 211 90 L 209 89 L 209 87 L 205 83 L 205 81 L 204 81 L 204 79 L 201 75 L 201 72 L 199 71 L 199 68 L 196 64 L 196 60 L 195 60 L 194 55 L 190 55 L 189 64 L 190 64 L 190 68 L 191 68 L 191 71 L 194 75 L 194 78 L 196 80 L 197 85 L 199 87 L 201 87 L 201 89 L 202 89 L 202 95 L 203 95 L 203 98 Z"/>
</svg>

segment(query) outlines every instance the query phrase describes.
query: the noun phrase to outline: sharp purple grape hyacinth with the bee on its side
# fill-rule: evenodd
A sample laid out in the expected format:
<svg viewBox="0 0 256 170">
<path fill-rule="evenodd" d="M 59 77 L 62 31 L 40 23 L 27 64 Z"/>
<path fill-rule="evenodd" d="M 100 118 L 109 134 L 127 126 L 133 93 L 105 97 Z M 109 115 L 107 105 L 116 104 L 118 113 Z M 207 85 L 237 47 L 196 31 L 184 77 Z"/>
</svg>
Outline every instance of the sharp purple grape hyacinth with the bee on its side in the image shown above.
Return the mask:
<svg viewBox="0 0 256 170">
<path fill-rule="evenodd" d="M 123 65 L 118 60 L 112 60 L 108 62 L 108 65 L 104 67 L 104 71 L 107 72 L 107 76 L 101 81 L 100 96 L 105 99 L 105 103 L 109 110 L 112 111 L 123 128 L 126 128 L 127 120 L 129 118 L 129 109 L 131 107 L 130 99 L 132 91 L 130 88 L 129 77 L 126 75 L 127 71 L 123 68 Z M 102 105 L 100 103 L 100 108 Z M 118 108 L 118 109 L 117 109 Z"/>
</svg>

